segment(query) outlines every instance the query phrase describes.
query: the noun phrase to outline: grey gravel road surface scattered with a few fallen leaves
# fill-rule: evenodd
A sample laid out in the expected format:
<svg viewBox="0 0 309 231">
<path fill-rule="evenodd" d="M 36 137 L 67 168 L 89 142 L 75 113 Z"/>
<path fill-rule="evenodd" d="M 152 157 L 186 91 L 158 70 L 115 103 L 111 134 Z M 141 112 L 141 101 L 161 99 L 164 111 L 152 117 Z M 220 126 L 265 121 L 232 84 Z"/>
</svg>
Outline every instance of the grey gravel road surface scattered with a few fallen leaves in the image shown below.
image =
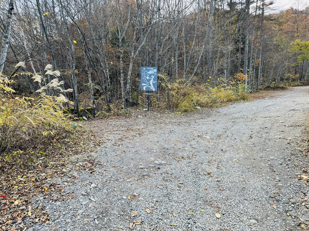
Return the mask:
<svg viewBox="0 0 309 231">
<path fill-rule="evenodd" d="M 106 143 L 72 159 L 84 166 L 70 172 L 73 185 L 51 180 L 75 196 L 38 198 L 51 218 L 28 230 L 304 230 L 308 91 L 193 115 L 89 122 Z"/>
</svg>

